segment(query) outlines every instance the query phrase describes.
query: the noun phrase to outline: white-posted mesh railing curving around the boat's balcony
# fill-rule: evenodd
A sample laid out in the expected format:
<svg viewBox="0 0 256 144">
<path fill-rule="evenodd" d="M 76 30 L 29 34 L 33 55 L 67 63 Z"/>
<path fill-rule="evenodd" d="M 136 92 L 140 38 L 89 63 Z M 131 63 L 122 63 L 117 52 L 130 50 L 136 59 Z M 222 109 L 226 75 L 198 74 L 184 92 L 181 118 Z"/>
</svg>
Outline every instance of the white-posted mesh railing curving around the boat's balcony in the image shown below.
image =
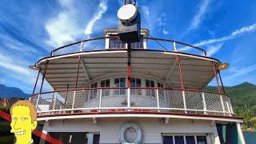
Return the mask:
<svg viewBox="0 0 256 144">
<path fill-rule="evenodd" d="M 30 97 L 38 114 L 98 111 L 176 112 L 233 115 L 230 98 L 199 90 L 157 88 L 97 88 L 62 90 Z"/>
</svg>

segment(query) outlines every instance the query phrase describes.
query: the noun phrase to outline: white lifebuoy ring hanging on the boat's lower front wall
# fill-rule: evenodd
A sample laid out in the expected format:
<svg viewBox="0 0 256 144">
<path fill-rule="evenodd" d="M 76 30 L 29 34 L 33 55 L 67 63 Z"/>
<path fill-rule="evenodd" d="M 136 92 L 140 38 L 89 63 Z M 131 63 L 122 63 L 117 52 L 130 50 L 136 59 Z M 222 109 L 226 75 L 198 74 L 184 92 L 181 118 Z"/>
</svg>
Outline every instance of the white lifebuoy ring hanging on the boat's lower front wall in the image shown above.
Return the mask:
<svg viewBox="0 0 256 144">
<path fill-rule="evenodd" d="M 134 128 L 134 130 L 136 130 L 137 132 L 137 138 L 135 139 L 134 142 L 127 142 L 125 138 L 126 130 L 129 129 L 130 127 Z M 120 142 L 122 142 L 122 144 L 139 144 L 141 141 L 142 141 L 142 129 L 140 126 L 138 126 L 138 124 L 134 122 L 128 122 L 122 125 L 122 129 L 120 133 Z"/>
</svg>

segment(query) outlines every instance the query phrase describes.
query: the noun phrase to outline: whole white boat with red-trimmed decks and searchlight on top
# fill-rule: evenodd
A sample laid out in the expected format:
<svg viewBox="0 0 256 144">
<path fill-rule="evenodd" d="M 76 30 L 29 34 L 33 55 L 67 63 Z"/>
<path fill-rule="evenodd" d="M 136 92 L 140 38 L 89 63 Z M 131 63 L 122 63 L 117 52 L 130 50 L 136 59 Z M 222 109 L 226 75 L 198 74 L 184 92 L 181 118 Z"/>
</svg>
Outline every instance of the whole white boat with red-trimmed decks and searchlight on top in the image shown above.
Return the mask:
<svg viewBox="0 0 256 144">
<path fill-rule="evenodd" d="M 134 1 L 103 35 L 30 66 L 38 70 L 30 101 L 43 133 L 63 143 L 245 143 L 220 77 L 227 64 L 197 46 L 152 38 Z M 204 91 L 212 80 L 218 92 Z M 46 82 L 54 90 L 44 90 Z"/>
</svg>

